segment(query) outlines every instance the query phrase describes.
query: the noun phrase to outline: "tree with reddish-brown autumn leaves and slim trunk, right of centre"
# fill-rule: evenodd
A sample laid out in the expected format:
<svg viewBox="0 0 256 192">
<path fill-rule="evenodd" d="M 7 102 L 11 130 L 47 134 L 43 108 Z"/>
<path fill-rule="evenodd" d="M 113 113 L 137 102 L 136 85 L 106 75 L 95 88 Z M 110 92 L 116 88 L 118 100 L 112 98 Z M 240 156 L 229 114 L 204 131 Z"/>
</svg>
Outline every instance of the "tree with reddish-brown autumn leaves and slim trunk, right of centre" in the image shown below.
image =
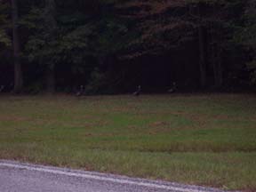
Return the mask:
<svg viewBox="0 0 256 192">
<path fill-rule="evenodd" d="M 211 44 L 208 42 L 208 36 L 212 24 L 220 22 L 220 18 L 216 15 L 221 15 L 220 11 L 212 12 L 212 10 L 210 14 L 205 14 L 205 10 L 209 10 L 209 7 L 213 9 L 218 4 L 218 1 L 149 0 L 141 2 L 133 0 L 121 5 L 126 9 L 135 10 L 136 8 L 137 10 L 128 15 L 138 20 L 141 29 L 140 38 L 132 43 L 137 49 L 140 47 L 139 52 L 133 52 L 134 56 L 148 53 L 161 54 L 169 50 L 182 49 L 184 44 L 196 41 L 200 84 L 204 88 L 207 85 L 207 68 L 209 68 L 207 57 L 209 56 L 209 44 Z M 214 70 L 216 71 L 216 84 L 220 86 L 222 84 L 221 69 L 214 68 Z"/>
</svg>

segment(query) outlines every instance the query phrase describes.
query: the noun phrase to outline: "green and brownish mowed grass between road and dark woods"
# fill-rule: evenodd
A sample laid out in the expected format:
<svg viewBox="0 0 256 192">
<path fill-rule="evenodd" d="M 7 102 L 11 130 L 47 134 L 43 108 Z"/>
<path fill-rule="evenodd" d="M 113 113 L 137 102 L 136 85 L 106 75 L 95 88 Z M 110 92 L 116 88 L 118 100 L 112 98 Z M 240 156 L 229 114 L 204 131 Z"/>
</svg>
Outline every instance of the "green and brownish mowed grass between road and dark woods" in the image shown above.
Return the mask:
<svg viewBox="0 0 256 192">
<path fill-rule="evenodd" d="M 254 191 L 256 96 L 3 96 L 0 158 Z"/>
</svg>

